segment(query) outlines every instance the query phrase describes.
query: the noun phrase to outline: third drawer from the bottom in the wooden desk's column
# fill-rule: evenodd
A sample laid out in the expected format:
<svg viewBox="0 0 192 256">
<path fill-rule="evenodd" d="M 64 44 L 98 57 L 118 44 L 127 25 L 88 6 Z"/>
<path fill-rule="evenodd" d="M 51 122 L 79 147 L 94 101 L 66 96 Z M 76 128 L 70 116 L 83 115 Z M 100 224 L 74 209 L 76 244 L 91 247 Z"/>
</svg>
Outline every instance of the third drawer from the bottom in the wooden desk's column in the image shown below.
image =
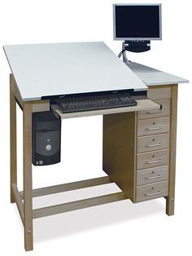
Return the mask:
<svg viewBox="0 0 192 256">
<path fill-rule="evenodd" d="M 168 161 L 168 149 L 139 153 L 137 154 L 137 170 L 168 165 Z"/>
</svg>

